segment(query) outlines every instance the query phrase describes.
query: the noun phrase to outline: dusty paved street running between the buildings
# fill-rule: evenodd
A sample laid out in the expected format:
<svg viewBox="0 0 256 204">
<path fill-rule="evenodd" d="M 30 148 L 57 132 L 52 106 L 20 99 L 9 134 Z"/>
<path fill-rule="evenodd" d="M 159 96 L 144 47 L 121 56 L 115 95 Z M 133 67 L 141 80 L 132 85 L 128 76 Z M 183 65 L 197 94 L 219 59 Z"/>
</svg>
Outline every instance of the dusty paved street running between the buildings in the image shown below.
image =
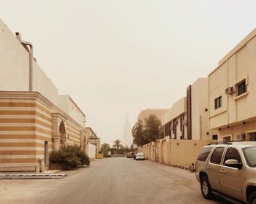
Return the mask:
<svg viewBox="0 0 256 204">
<path fill-rule="evenodd" d="M 223 203 L 200 195 L 195 174 L 124 157 L 96 160 L 59 180 L 1 180 L 0 203 Z"/>
</svg>

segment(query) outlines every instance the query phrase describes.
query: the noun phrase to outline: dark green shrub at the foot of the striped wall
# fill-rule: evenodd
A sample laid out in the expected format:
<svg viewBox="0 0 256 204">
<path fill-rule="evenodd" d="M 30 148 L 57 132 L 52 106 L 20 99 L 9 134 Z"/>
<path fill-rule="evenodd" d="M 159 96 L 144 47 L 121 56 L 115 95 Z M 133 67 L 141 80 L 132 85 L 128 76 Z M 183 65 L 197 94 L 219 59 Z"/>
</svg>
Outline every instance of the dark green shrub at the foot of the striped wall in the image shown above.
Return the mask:
<svg viewBox="0 0 256 204">
<path fill-rule="evenodd" d="M 50 164 L 59 164 L 63 170 L 90 165 L 89 157 L 78 146 L 64 146 L 50 153 Z"/>
</svg>

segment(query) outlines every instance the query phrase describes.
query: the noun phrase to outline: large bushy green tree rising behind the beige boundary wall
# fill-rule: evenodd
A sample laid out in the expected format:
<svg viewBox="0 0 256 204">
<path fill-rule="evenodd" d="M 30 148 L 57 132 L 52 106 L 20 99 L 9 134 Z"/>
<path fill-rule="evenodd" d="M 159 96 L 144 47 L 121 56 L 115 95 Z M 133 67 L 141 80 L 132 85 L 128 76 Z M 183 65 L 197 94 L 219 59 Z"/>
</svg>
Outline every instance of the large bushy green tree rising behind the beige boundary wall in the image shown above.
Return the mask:
<svg viewBox="0 0 256 204">
<path fill-rule="evenodd" d="M 155 114 L 149 114 L 144 123 L 139 120 L 137 125 L 132 128 L 133 142 L 138 146 L 157 141 L 163 136 L 161 121 Z"/>
</svg>

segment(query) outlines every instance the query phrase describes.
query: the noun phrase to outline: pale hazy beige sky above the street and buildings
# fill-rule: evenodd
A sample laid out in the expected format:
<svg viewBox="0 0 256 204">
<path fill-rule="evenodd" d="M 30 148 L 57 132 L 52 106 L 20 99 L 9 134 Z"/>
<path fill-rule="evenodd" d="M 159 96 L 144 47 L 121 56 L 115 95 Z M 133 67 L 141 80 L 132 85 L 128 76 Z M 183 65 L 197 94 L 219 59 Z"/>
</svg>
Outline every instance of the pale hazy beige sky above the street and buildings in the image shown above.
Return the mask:
<svg viewBox="0 0 256 204">
<path fill-rule="evenodd" d="M 60 94 L 102 142 L 140 110 L 170 108 L 256 27 L 256 1 L 2 1 L 0 17 L 34 44 Z"/>
</svg>

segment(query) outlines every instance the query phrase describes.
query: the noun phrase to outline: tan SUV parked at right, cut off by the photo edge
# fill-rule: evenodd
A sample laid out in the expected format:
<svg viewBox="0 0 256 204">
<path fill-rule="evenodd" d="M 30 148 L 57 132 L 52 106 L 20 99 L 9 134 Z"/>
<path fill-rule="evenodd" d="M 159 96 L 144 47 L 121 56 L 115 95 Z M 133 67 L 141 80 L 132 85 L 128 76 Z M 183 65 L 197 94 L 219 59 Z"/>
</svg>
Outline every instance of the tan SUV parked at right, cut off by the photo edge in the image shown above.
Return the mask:
<svg viewBox="0 0 256 204">
<path fill-rule="evenodd" d="M 201 150 L 195 176 L 206 199 L 256 203 L 256 142 L 209 144 Z"/>
</svg>

